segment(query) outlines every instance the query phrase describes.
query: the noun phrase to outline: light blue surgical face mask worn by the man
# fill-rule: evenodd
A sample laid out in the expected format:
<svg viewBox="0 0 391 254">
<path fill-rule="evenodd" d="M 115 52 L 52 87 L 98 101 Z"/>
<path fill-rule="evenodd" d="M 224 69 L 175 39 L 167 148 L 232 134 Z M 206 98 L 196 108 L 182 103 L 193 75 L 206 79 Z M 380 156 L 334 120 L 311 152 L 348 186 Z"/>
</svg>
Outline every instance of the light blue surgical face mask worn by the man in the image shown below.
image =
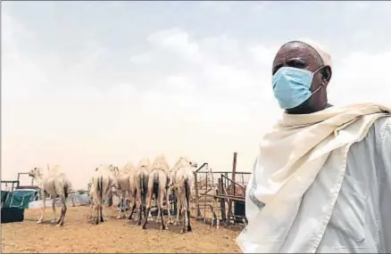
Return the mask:
<svg viewBox="0 0 391 254">
<path fill-rule="evenodd" d="M 321 86 L 311 93 L 312 78 L 317 71 L 312 73 L 310 70 L 281 67 L 271 79 L 279 107 L 284 110 L 293 109 L 318 92 Z"/>
</svg>

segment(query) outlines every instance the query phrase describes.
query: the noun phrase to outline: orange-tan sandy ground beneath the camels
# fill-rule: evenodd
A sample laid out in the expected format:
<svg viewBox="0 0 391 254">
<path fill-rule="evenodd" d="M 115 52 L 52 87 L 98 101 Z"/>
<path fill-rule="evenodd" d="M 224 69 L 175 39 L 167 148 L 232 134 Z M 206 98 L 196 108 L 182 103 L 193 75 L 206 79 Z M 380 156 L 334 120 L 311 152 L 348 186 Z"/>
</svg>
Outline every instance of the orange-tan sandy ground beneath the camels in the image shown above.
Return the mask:
<svg viewBox="0 0 391 254">
<path fill-rule="evenodd" d="M 2 224 L 4 252 L 105 252 L 105 253 L 241 253 L 235 243 L 239 231 L 216 229 L 192 221 L 193 233 L 179 234 L 179 226 L 161 231 L 154 222 L 142 230 L 135 222 L 117 220 L 113 209 L 106 209 L 109 220 L 91 225 L 87 207 L 69 208 L 62 227 L 52 225 L 53 211 L 46 209 L 46 222 L 37 225 L 39 209 L 27 209 L 21 223 Z M 57 209 L 59 216 L 60 209 Z"/>
</svg>

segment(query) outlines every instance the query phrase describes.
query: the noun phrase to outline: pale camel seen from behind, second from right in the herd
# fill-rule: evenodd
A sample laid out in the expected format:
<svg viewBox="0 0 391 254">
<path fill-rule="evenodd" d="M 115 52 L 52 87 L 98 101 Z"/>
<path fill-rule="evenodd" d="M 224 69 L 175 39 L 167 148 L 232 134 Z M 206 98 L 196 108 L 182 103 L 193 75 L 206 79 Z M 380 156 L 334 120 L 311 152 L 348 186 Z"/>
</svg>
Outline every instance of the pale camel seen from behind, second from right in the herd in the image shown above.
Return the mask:
<svg viewBox="0 0 391 254">
<path fill-rule="evenodd" d="M 163 198 L 166 194 L 166 187 L 169 183 L 169 164 L 165 156 L 159 155 L 155 158 L 154 164 L 151 168 L 151 172 L 148 176 L 148 190 L 147 190 L 147 198 L 146 198 L 146 214 L 149 214 L 151 211 L 151 202 L 153 196 L 155 196 L 155 200 L 157 201 L 157 209 L 158 209 L 158 218 L 161 219 L 161 228 L 162 230 L 168 229 L 167 225 L 164 222 L 163 217 Z M 167 204 L 169 203 L 169 197 L 167 197 Z M 170 209 L 169 217 L 171 217 Z M 144 224 L 142 226 L 143 229 L 146 229 L 147 218 L 144 219 Z"/>
</svg>

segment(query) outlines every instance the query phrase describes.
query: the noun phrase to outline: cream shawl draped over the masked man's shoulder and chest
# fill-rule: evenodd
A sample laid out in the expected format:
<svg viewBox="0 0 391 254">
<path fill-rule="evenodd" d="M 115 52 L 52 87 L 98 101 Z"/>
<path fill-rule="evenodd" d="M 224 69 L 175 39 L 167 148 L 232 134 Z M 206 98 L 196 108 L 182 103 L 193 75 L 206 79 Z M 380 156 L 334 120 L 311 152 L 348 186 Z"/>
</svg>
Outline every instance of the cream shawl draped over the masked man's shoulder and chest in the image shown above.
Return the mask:
<svg viewBox="0 0 391 254">
<path fill-rule="evenodd" d="M 246 192 L 248 225 L 237 237 L 240 248 L 245 253 L 277 253 L 287 249 L 283 243 L 302 197 L 332 153 L 327 167 L 335 170 L 330 172 L 335 174 L 335 181 L 330 183 L 329 201 L 319 204 L 324 206 L 322 214 L 308 222 L 314 223 L 310 227 L 312 232 L 306 233 L 312 235 L 312 241 L 296 248 L 314 253 L 337 201 L 350 145 L 362 140 L 374 121 L 389 116 L 389 112 L 386 106 L 362 103 L 306 115 L 284 113 L 260 145 Z"/>
</svg>

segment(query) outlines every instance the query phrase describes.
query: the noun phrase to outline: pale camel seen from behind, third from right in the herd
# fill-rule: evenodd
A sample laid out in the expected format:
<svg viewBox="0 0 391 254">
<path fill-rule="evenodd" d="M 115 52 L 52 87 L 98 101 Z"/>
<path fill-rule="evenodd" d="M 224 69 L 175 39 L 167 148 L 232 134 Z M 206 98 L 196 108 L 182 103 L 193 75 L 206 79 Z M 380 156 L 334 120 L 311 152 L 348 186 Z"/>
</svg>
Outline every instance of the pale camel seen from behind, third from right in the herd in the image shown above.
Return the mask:
<svg viewBox="0 0 391 254">
<path fill-rule="evenodd" d="M 137 225 L 141 225 L 141 216 L 144 212 L 144 216 L 147 218 L 147 215 L 150 216 L 150 213 L 146 213 L 146 194 L 148 186 L 148 176 L 151 171 L 151 162 L 148 158 L 143 158 L 138 163 L 137 169 L 134 171 L 134 174 L 130 176 L 130 187 L 132 189 L 132 208 L 129 214 L 129 220 L 137 207 L 138 217 Z"/>
</svg>

